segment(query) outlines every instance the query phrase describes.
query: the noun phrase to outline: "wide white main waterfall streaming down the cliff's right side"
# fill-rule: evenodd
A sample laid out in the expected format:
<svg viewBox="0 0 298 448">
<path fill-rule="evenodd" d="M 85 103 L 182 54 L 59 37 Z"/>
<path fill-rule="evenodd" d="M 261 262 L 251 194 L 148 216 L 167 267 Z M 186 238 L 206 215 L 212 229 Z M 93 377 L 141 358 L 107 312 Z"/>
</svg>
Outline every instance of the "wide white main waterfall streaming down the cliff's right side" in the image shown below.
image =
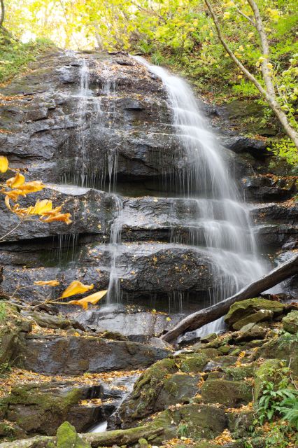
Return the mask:
<svg viewBox="0 0 298 448">
<path fill-rule="evenodd" d="M 187 83 L 142 57 L 136 61 L 158 76 L 168 97 L 172 125 L 185 153 L 187 167 L 183 179 L 185 201 L 194 201 L 194 220 L 188 223 L 187 241 L 173 232 L 173 241 L 200 246 L 213 264 L 214 290 L 211 303 L 229 297 L 264 274 L 248 209 L 241 202 L 236 184 L 222 158 L 218 144 Z M 195 199 L 194 199 L 195 197 Z"/>
</svg>

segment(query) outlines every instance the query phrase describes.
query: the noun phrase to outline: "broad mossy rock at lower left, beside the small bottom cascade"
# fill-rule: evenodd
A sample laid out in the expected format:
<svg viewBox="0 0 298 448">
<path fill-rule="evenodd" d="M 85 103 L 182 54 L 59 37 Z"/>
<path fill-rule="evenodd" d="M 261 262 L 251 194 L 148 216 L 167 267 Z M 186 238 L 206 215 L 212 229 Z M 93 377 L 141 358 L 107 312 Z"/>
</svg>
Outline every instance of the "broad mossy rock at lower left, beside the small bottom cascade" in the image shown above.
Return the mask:
<svg viewBox="0 0 298 448">
<path fill-rule="evenodd" d="M 71 381 L 21 383 L 0 398 L 1 417 L 23 435 L 55 435 L 65 420 L 84 431 L 97 422 L 97 416 L 94 408 L 80 406 L 80 400 L 96 398 L 100 393 L 100 386 L 77 386 Z"/>
</svg>

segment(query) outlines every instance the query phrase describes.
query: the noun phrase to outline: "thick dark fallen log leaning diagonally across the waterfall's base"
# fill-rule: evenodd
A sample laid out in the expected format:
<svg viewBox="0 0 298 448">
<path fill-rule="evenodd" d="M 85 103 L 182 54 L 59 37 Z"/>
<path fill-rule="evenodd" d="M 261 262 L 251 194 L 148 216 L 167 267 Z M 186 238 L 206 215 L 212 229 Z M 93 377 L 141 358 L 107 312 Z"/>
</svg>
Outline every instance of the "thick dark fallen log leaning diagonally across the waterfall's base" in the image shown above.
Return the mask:
<svg viewBox="0 0 298 448">
<path fill-rule="evenodd" d="M 281 283 L 281 281 L 288 279 L 290 276 L 298 273 L 298 255 L 290 258 L 290 260 L 279 265 L 275 269 L 262 276 L 260 279 L 252 281 L 248 286 L 241 289 L 239 293 L 228 297 L 222 302 L 219 302 L 211 307 L 201 309 L 195 313 L 185 317 L 182 321 L 177 323 L 171 330 L 161 336 L 166 342 L 173 342 L 178 336 L 186 331 L 197 330 L 206 323 L 215 321 L 224 316 L 229 311 L 229 307 L 234 302 L 240 302 L 251 297 L 256 297 L 265 290 L 272 288 L 272 286 Z"/>
</svg>

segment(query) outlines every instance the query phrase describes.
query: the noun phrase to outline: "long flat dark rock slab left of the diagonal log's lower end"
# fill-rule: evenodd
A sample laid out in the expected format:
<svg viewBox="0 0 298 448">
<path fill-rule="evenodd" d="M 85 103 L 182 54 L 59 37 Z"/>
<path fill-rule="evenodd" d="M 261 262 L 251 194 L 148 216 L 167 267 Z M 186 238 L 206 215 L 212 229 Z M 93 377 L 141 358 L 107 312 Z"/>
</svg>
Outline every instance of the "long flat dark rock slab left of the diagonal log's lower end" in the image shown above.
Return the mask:
<svg viewBox="0 0 298 448">
<path fill-rule="evenodd" d="M 169 354 L 166 349 L 100 337 L 27 337 L 23 364 L 44 374 L 81 374 L 147 367 Z"/>
</svg>

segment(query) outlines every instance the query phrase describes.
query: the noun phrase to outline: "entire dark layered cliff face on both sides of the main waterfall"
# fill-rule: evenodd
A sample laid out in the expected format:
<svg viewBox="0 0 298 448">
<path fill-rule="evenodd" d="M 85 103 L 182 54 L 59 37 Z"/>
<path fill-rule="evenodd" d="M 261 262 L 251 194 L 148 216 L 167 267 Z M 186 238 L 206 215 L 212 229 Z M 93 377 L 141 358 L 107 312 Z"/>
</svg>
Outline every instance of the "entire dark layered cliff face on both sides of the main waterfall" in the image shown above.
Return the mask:
<svg viewBox="0 0 298 448">
<path fill-rule="evenodd" d="M 113 261 L 107 243 L 120 225 L 125 244 L 118 269 L 125 301 L 147 305 L 150 300 L 163 310 L 170 298 L 174 309 L 180 299 L 188 302 L 186 309 L 204 307 L 213 288 L 213 265 L 198 247 L 204 246 L 200 230 L 197 246 L 184 246 L 192 237 L 189 223 L 197 205 L 179 197 L 177 180 L 192 169 L 192 160 L 173 130 L 161 80 L 127 55 L 52 52 L 4 90 L 1 154 L 27 179 L 49 183 L 25 202 L 52 197 L 71 212 L 73 223 L 29 222 L 12 232 L 1 245 L 3 290 L 53 278 L 61 281 L 60 290 L 73 279 L 107 288 Z M 204 109 L 218 122 L 220 110 Z M 236 176 L 251 203 L 262 250 L 295 249 L 297 206 L 283 201 L 295 193 L 296 180 L 255 176 L 267 157 L 262 141 L 215 124 L 227 175 Z M 17 218 L 3 202 L 0 211 L 3 235 Z M 20 296 L 34 300 L 38 293 L 28 288 Z"/>
</svg>

